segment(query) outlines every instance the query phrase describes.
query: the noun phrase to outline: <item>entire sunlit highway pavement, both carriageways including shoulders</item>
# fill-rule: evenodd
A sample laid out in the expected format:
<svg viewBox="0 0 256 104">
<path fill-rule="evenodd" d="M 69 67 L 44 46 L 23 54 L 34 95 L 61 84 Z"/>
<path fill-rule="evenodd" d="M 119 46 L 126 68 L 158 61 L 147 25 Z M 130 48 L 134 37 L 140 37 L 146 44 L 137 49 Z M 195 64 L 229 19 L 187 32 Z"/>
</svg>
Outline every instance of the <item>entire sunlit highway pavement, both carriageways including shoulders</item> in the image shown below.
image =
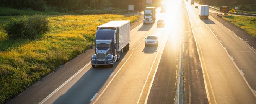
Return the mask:
<svg viewBox="0 0 256 104">
<path fill-rule="evenodd" d="M 173 104 L 180 55 L 185 104 L 256 104 L 256 50 L 245 39 L 212 16 L 201 20 L 190 1 L 156 17 L 164 27 L 131 24 L 130 50 L 113 68 L 92 68 L 86 50 L 7 104 Z M 157 47 L 145 46 L 148 35 Z"/>
</svg>

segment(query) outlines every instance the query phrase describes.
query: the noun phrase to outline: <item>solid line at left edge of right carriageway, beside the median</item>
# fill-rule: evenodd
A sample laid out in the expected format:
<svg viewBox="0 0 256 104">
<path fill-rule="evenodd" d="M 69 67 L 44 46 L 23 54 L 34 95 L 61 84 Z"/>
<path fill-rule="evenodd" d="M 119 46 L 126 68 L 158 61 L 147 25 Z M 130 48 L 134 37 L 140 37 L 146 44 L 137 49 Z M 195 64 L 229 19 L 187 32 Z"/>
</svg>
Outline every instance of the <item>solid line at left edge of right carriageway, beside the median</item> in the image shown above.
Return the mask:
<svg viewBox="0 0 256 104">
<path fill-rule="evenodd" d="M 202 73 L 203 73 L 203 77 L 204 77 L 204 86 L 205 86 L 205 91 L 206 91 L 206 94 L 207 94 L 207 99 L 208 99 L 209 104 L 211 104 L 211 102 L 210 102 L 211 100 L 210 100 L 210 96 L 209 96 L 209 92 L 208 92 L 208 86 L 207 86 L 207 82 L 206 82 L 206 78 L 205 78 L 205 74 L 204 74 L 204 68 L 203 68 L 203 65 L 202 65 L 202 59 L 201 59 L 201 55 L 200 55 L 201 51 L 199 52 L 199 49 L 198 49 L 199 48 L 199 44 L 197 44 L 197 41 L 196 41 L 196 36 L 195 36 L 194 29 L 193 29 L 193 26 L 192 26 L 192 22 L 191 22 L 189 13 L 188 13 L 187 3 L 185 3 L 185 6 L 186 6 L 186 10 L 187 10 L 187 14 L 188 14 L 188 19 L 189 19 L 189 23 L 190 23 L 190 26 L 191 26 L 191 30 L 192 30 L 192 33 L 193 33 L 193 36 L 194 36 L 194 39 L 195 39 L 195 43 L 196 43 L 197 54 L 199 56 L 199 60 L 200 60 L 201 68 L 202 68 Z M 214 99 L 214 101 L 215 101 L 215 99 Z M 216 101 L 215 101 L 215 103 L 216 103 Z"/>
</svg>

